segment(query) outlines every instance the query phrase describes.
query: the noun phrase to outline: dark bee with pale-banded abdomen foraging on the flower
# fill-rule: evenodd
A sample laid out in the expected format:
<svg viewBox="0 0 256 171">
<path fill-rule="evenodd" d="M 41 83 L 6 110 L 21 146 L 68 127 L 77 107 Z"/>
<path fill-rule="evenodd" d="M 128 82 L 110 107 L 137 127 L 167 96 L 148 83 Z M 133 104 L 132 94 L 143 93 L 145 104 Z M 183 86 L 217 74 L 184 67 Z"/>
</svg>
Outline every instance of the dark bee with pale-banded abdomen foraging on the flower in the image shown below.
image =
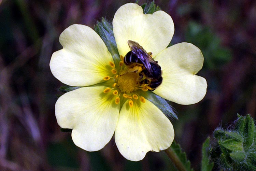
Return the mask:
<svg viewBox="0 0 256 171">
<path fill-rule="evenodd" d="M 131 51 L 124 57 L 125 65 L 141 66 L 141 69 L 137 67 L 134 71 L 139 72 L 140 76 L 143 77 L 141 84 L 148 84 L 151 87 L 150 90 L 153 91 L 162 83 L 161 67 L 139 43 L 128 40 L 128 45 Z"/>
</svg>

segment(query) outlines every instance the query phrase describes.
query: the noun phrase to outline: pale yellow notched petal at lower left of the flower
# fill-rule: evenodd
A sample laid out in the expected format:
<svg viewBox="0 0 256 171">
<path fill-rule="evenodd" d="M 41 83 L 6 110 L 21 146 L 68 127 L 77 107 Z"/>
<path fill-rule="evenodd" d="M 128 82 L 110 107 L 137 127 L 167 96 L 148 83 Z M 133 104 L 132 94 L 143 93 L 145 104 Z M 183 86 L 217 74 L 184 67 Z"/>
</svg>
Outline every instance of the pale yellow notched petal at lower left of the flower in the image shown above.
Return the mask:
<svg viewBox="0 0 256 171">
<path fill-rule="evenodd" d="M 119 105 L 106 87 L 84 87 L 62 95 L 55 114 L 62 128 L 72 130 L 75 145 L 86 151 L 98 151 L 112 138 L 118 120 Z"/>
</svg>

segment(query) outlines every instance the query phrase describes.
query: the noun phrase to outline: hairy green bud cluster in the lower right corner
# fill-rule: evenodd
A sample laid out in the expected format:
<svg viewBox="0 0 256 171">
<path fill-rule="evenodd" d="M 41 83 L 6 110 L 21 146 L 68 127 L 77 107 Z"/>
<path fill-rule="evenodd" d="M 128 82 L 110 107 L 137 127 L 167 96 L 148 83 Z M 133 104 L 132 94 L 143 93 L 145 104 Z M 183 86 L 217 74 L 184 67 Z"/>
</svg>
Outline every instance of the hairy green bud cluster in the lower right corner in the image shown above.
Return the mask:
<svg viewBox="0 0 256 171">
<path fill-rule="evenodd" d="M 238 115 L 231 129 L 216 129 L 211 157 L 225 170 L 256 170 L 256 132 L 253 118 Z"/>
</svg>

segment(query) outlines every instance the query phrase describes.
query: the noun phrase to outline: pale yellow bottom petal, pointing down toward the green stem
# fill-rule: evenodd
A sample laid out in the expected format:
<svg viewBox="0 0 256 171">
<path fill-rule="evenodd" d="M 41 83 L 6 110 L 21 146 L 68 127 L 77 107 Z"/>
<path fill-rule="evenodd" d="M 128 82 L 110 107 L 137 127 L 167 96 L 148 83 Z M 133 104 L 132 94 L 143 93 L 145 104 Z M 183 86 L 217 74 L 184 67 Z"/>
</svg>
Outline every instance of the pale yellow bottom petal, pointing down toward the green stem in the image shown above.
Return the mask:
<svg viewBox="0 0 256 171">
<path fill-rule="evenodd" d="M 168 148 L 174 139 L 170 120 L 150 101 L 123 105 L 115 131 L 119 152 L 128 160 L 142 160 L 148 151 Z"/>
</svg>

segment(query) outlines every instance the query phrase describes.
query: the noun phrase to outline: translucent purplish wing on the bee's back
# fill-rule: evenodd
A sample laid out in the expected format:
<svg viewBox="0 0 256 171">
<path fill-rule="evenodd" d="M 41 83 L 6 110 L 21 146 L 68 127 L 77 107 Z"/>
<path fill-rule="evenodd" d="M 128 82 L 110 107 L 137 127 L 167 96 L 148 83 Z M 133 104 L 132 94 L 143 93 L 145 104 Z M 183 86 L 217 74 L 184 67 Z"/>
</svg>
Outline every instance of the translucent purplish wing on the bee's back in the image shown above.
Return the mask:
<svg viewBox="0 0 256 171">
<path fill-rule="evenodd" d="M 139 43 L 134 42 L 132 40 L 128 40 L 128 45 L 131 49 L 131 52 L 134 55 L 137 55 L 137 57 L 141 59 L 146 70 L 149 73 L 152 73 L 152 68 L 151 68 L 150 62 L 156 63 L 156 61 L 145 51 L 145 49 L 143 49 L 143 47 L 141 45 L 139 45 Z"/>
</svg>

